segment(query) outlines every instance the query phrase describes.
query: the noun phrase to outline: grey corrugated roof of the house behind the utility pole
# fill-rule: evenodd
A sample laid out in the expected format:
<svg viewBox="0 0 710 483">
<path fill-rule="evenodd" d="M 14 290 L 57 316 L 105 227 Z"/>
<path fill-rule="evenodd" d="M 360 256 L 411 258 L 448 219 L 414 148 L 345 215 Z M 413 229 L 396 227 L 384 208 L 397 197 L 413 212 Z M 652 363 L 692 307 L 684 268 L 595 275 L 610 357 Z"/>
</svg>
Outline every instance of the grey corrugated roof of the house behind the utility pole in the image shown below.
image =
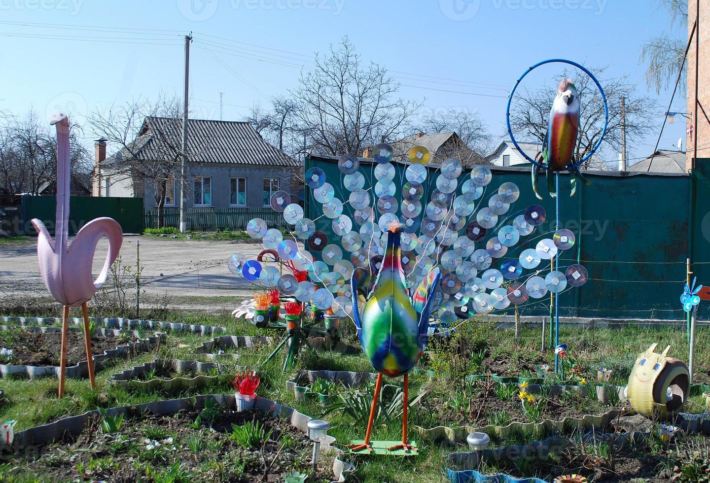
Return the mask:
<svg viewBox="0 0 710 483">
<path fill-rule="evenodd" d="M 267 143 L 261 135 L 244 121 L 211 121 L 207 119 L 189 119 L 187 121 L 190 162 L 222 163 L 230 165 L 267 165 L 300 166 L 293 158 Z M 165 142 L 165 138 L 170 139 Z M 175 118 L 146 117 L 141 128 L 141 135 L 131 148 L 136 157 L 155 160 L 165 157 L 172 151 L 169 146 L 175 139 L 182 138 L 182 121 Z M 129 150 L 121 155 L 126 156 Z M 114 159 L 107 160 L 108 162 Z"/>
</svg>

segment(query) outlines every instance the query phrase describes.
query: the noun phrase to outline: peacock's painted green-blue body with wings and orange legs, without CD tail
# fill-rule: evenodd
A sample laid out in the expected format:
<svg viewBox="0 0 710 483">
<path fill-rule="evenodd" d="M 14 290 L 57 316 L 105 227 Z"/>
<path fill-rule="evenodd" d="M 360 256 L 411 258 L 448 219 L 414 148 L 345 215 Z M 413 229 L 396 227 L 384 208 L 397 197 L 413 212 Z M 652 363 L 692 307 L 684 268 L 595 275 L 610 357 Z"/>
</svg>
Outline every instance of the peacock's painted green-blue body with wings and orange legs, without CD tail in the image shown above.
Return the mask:
<svg viewBox="0 0 710 483">
<path fill-rule="evenodd" d="M 440 272 L 438 267 L 433 267 L 410 297 L 402 267 L 400 236 L 400 227 L 389 228 L 385 255 L 373 284 L 368 283 L 371 277 L 363 268 L 354 270 L 351 278 L 357 333 L 366 357 L 378 372 L 365 440 L 362 444 L 352 445 L 353 451 L 372 451 L 369 442 L 383 374 L 388 377 L 404 375 L 402 443 L 388 450 L 403 449 L 407 453 L 416 450 L 407 438 L 408 374 L 424 353 L 434 301 L 432 295 L 439 283 Z M 365 303 L 360 313 L 361 296 Z"/>
</svg>

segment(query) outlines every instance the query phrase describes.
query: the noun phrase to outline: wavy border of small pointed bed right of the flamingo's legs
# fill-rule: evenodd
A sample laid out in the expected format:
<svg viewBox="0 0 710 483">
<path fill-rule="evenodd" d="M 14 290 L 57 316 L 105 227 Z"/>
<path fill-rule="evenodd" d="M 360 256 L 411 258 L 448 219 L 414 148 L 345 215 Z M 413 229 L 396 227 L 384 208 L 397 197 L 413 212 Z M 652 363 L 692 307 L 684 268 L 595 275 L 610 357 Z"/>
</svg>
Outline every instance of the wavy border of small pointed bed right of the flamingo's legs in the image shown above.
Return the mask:
<svg viewBox="0 0 710 483">
<path fill-rule="evenodd" d="M 141 381 L 136 379 L 141 374 L 146 374 L 146 372 L 151 372 L 158 367 L 169 367 L 175 371 L 175 377 L 170 377 L 169 379 L 149 379 L 147 381 Z M 178 392 L 184 389 L 195 389 L 198 387 L 205 387 L 212 382 L 217 381 L 217 376 L 207 376 L 204 374 L 198 374 L 195 377 L 180 377 L 181 372 L 207 372 L 212 369 L 217 369 L 217 372 L 221 372 L 224 367 L 217 364 L 217 362 L 198 362 L 196 360 L 180 360 L 180 359 L 156 359 L 151 362 L 146 362 L 143 365 L 133 367 L 133 369 L 126 369 L 119 372 L 118 374 L 113 374 L 111 377 L 106 379 L 107 384 L 111 384 L 116 387 L 121 387 L 125 389 L 137 389 L 137 390 L 161 390 L 161 391 L 173 391 Z"/>
</svg>

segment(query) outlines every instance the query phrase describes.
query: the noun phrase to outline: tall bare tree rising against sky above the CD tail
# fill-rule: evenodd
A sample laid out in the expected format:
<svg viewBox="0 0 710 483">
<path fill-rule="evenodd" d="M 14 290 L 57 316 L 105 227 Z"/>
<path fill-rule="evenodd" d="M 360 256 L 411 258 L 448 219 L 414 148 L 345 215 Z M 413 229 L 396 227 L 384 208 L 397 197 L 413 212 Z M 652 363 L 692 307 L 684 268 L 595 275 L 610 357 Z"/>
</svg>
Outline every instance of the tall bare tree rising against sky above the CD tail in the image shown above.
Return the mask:
<svg viewBox="0 0 710 483">
<path fill-rule="evenodd" d="M 328 155 L 359 155 L 382 137 L 400 138 L 421 106 L 395 98 L 399 84 L 385 67 L 361 58 L 347 37 L 327 55 L 316 55 L 315 67 L 303 72 L 291 91 L 297 106 L 299 133 L 310 150 Z"/>
</svg>

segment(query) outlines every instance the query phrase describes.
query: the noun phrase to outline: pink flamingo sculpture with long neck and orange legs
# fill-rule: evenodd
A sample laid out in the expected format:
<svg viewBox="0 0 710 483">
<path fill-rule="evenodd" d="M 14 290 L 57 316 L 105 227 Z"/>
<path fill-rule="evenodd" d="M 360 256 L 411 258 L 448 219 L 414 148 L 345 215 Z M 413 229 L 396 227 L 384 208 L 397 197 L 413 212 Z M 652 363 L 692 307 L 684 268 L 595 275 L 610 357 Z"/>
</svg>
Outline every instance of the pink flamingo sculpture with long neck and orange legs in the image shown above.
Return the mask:
<svg viewBox="0 0 710 483">
<path fill-rule="evenodd" d="M 69 308 L 82 306 L 84 315 L 84 340 L 86 343 L 91 387 L 96 387 L 94 380 L 94 359 L 89 333 L 87 301 L 106 281 L 111 264 L 116 260 L 123 243 L 121 226 L 113 218 L 96 218 L 89 221 L 77 233 L 71 247 L 67 247 L 69 236 L 69 198 L 70 198 L 70 150 L 69 119 L 65 114 L 53 116 L 50 123 L 57 128 L 57 216 L 55 240 L 37 218 L 32 224 L 37 230 L 37 255 L 40 262 L 40 274 L 47 289 L 60 304 L 62 313 L 62 353 L 60 358 L 59 397 L 64 397 L 64 382 L 67 367 L 67 333 L 69 331 Z M 97 243 L 102 237 L 109 239 L 109 250 L 96 280 L 92 276 L 92 264 Z"/>
</svg>

